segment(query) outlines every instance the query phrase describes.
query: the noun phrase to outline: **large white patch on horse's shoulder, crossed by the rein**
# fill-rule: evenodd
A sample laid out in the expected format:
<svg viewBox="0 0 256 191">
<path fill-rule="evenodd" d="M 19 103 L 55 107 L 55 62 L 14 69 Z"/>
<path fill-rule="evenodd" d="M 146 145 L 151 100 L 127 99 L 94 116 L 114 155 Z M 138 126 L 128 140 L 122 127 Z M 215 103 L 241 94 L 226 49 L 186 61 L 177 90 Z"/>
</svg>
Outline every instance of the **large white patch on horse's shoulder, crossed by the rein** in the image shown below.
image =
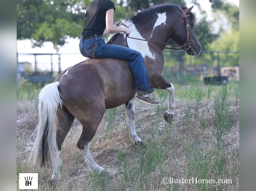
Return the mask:
<svg viewBox="0 0 256 191">
<path fill-rule="evenodd" d="M 140 35 L 139 31 L 136 29 L 136 27 L 132 21 L 130 21 L 130 20 L 126 21 L 126 22 L 124 22 L 124 24 L 132 30 L 129 37 L 145 40 Z M 124 38 L 125 38 L 125 34 L 124 34 Z M 127 38 L 127 44 L 129 46 L 129 48 L 139 51 L 142 54 L 143 58 L 145 58 L 146 56 L 148 56 L 149 58 L 152 58 L 152 59 L 155 58 L 153 56 L 153 54 L 149 51 L 148 42 Z"/>
</svg>

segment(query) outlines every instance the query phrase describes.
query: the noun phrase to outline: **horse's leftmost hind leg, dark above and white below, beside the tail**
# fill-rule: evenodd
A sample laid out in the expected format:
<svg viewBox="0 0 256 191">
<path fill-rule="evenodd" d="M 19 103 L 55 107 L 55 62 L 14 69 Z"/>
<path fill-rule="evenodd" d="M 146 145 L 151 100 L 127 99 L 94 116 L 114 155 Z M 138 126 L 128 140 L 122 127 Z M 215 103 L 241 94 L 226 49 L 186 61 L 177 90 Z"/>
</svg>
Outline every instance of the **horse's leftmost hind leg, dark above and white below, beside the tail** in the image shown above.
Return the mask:
<svg viewBox="0 0 256 191">
<path fill-rule="evenodd" d="M 49 185 L 55 186 L 54 184 L 59 181 L 60 173 L 59 173 L 59 154 L 61 150 L 61 145 L 67 136 L 72 123 L 74 122 L 75 117 L 67 110 L 65 106 L 59 107 L 57 111 L 58 118 L 58 128 L 57 128 L 57 145 L 58 151 L 55 152 L 55 156 L 53 158 L 53 174 L 49 179 Z"/>
</svg>

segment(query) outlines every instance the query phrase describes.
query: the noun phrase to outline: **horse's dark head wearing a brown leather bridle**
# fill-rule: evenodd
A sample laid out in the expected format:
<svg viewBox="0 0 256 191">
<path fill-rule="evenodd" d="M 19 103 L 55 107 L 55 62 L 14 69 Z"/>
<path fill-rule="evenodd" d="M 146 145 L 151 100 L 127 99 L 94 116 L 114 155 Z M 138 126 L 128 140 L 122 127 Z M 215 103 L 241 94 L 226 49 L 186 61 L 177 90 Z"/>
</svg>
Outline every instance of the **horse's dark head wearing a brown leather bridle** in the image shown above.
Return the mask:
<svg viewBox="0 0 256 191">
<path fill-rule="evenodd" d="M 193 8 L 180 8 L 180 14 L 177 16 L 175 22 L 173 33 L 171 39 L 175 41 L 178 45 L 183 45 L 183 49 L 187 52 L 188 55 L 199 55 L 202 50 L 197 36 L 194 32 L 194 24 L 196 23 L 196 17 L 191 13 Z"/>
</svg>

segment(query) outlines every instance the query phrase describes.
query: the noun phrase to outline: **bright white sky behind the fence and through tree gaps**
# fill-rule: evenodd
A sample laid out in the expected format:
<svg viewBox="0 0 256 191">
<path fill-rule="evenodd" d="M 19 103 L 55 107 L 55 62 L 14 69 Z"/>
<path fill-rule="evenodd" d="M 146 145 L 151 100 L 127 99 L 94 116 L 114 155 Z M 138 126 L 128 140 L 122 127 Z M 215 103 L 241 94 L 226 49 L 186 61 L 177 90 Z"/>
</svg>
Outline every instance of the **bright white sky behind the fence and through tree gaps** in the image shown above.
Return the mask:
<svg viewBox="0 0 256 191">
<path fill-rule="evenodd" d="M 239 6 L 239 0 L 226 0 L 226 1 Z M 213 20 L 211 4 L 209 0 L 199 0 L 199 3 L 201 5 L 202 10 L 205 10 L 208 13 L 207 19 Z M 193 5 L 194 4 L 187 3 L 186 6 L 191 7 Z M 198 8 L 196 6 L 194 6 L 192 11 L 196 14 L 198 19 L 200 19 L 200 14 L 197 14 Z M 53 53 L 53 54 L 56 53 L 56 50 L 53 48 L 53 45 L 50 42 L 44 43 L 41 48 L 39 47 L 32 48 L 31 46 L 32 46 L 32 43 L 30 40 L 22 40 L 22 41 L 17 40 L 17 52 L 19 54 L 18 56 L 19 62 L 30 62 L 32 63 L 32 67 L 34 67 L 34 62 L 35 62 L 34 56 L 22 55 L 22 53 Z M 66 68 L 86 59 L 80 54 L 78 38 L 67 39 L 67 43 L 59 49 L 59 54 L 67 54 L 67 55 L 61 55 L 61 58 L 60 58 L 61 70 L 65 70 Z M 38 63 L 38 67 L 41 70 L 49 70 L 50 61 L 51 61 L 50 59 L 51 59 L 50 56 L 37 56 L 36 61 Z M 57 56 L 53 56 L 52 61 L 53 61 L 53 70 L 57 71 L 58 70 Z"/>
</svg>

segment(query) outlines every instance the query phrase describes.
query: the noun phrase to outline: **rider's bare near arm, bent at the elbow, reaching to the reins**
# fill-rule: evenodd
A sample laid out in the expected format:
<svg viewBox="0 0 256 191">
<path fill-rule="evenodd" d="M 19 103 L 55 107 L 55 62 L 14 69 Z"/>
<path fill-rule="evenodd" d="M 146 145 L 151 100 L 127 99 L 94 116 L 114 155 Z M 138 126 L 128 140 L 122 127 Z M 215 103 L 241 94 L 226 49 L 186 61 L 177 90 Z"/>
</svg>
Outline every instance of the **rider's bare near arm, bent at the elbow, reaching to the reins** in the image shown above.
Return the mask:
<svg viewBox="0 0 256 191">
<path fill-rule="evenodd" d="M 109 9 L 106 12 L 106 31 L 109 33 L 125 33 L 127 35 L 130 34 L 131 29 L 127 27 L 117 27 L 114 25 L 114 9 Z M 105 33 L 105 31 L 104 31 Z M 104 35 L 103 33 L 103 35 Z"/>
</svg>

